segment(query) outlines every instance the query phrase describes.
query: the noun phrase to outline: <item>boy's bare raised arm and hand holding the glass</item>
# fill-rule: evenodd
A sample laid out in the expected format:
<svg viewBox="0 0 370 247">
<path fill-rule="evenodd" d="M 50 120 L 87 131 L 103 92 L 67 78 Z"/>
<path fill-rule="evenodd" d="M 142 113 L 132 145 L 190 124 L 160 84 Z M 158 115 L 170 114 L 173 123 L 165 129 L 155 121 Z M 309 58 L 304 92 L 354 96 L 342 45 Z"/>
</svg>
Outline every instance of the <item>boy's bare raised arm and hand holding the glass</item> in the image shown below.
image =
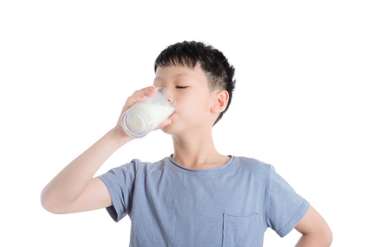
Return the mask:
<svg viewBox="0 0 370 247">
<path fill-rule="evenodd" d="M 75 213 L 112 205 L 111 195 L 106 185 L 100 178 L 93 178 L 93 176 L 113 152 L 133 139 L 121 126 L 123 113 L 136 102 L 154 95 L 156 91 L 157 88 L 153 86 L 135 91 L 128 97 L 122 108 L 116 126 L 69 163 L 45 186 L 41 192 L 41 204 L 47 211 Z M 155 130 L 170 123 L 170 119 L 166 119 Z"/>
</svg>

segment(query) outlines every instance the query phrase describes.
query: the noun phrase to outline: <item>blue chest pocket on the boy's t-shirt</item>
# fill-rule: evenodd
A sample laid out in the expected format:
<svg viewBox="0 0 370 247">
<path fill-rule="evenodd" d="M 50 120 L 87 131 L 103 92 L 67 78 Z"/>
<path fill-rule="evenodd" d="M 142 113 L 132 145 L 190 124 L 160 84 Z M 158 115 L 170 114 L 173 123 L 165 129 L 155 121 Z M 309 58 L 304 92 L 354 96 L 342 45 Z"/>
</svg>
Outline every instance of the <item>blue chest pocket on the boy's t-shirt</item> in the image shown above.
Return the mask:
<svg viewBox="0 0 370 247">
<path fill-rule="evenodd" d="M 222 247 L 255 247 L 257 213 L 229 215 L 224 213 Z"/>
</svg>

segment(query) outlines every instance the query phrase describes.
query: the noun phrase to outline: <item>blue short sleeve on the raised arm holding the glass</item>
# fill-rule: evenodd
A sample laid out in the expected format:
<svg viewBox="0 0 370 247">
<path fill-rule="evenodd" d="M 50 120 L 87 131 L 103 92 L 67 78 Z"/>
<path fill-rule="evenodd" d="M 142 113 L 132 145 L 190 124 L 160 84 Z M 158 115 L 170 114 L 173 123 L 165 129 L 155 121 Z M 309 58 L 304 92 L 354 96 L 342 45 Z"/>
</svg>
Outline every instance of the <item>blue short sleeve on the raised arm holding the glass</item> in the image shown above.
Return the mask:
<svg viewBox="0 0 370 247">
<path fill-rule="evenodd" d="M 106 207 L 109 215 L 115 222 L 119 222 L 131 211 L 132 195 L 137 174 L 137 162 L 130 163 L 110 169 L 105 174 L 97 176 L 103 180 L 113 202 L 113 206 Z"/>
</svg>

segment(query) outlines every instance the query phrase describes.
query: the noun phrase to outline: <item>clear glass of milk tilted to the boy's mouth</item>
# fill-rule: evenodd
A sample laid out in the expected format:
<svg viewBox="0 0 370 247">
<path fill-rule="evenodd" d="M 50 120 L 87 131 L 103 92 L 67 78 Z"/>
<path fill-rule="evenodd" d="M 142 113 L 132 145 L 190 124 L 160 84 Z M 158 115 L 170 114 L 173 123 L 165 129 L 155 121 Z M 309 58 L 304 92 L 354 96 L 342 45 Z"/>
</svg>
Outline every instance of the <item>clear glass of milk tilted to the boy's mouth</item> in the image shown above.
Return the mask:
<svg viewBox="0 0 370 247">
<path fill-rule="evenodd" d="M 156 94 L 137 102 L 121 118 L 122 128 L 133 138 L 145 137 L 174 113 L 176 99 L 170 90 L 159 87 Z"/>
</svg>

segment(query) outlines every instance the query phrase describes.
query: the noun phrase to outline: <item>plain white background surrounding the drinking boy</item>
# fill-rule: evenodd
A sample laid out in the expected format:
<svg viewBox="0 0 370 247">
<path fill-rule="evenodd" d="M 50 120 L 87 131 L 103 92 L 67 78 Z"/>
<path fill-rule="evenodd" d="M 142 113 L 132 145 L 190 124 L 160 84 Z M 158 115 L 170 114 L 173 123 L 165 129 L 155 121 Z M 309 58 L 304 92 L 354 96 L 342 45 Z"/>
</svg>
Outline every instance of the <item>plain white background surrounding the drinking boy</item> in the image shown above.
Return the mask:
<svg viewBox="0 0 370 247">
<path fill-rule="evenodd" d="M 0 242 L 128 246 L 128 217 L 54 215 L 41 207 L 41 190 L 113 128 L 133 91 L 152 84 L 160 51 L 198 40 L 236 68 L 233 101 L 213 128 L 218 152 L 274 165 L 323 215 L 332 246 L 364 246 L 369 12 L 367 1 L 353 0 L 1 1 Z M 157 130 L 117 150 L 96 175 L 172 151 Z M 299 237 L 268 228 L 264 246 Z"/>
</svg>

